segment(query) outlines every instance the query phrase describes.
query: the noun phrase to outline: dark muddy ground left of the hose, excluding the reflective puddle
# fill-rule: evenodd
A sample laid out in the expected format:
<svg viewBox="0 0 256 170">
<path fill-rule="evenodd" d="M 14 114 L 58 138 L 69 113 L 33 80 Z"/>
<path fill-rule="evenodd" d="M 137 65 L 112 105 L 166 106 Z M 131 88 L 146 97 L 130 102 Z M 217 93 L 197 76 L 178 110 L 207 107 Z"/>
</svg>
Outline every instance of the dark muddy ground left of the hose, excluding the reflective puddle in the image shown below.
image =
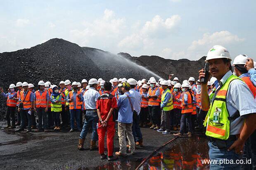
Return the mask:
<svg viewBox="0 0 256 170">
<path fill-rule="evenodd" d="M 143 158 L 163 143 L 174 138 L 173 135 L 162 135 L 161 132 L 141 128 L 144 147 L 136 149 L 135 155 L 119 158 L 116 163 L 129 166 L 133 162 L 134 169 Z M 5 170 L 28 169 L 99 169 L 106 165 L 107 160 L 101 160 L 98 151 L 90 151 L 90 136 L 85 140 L 85 150 L 78 151 L 79 132 L 19 132 L 0 129 L 0 167 Z M 114 139 L 114 152 L 119 151 L 117 136 Z M 126 168 L 127 169 L 127 168 Z"/>
</svg>

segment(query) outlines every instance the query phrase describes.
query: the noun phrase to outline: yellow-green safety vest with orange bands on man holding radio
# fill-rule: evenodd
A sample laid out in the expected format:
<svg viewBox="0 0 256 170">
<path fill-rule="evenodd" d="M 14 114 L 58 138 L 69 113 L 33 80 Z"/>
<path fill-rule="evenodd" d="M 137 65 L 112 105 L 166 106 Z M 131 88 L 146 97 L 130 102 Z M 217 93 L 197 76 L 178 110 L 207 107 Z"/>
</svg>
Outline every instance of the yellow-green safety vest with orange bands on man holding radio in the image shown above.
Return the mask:
<svg viewBox="0 0 256 170">
<path fill-rule="evenodd" d="M 204 126 L 206 126 L 206 136 L 214 137 L 218 139 L 227 140 L 230 135 L 230 122 L 231 118 L 227 109 L 227 93 L 228 87 L 230 83 L 239 79 L 237 76 L 230 76 L 228 80 L 222 85 L 220 90 L 217 92 L 215 99 L 213 99 L 213 95 L 216 92 L 216 88 L 213 89 L 212 94 L 209 96 L 211 101 L 210 109 L 206 115 L 204 120 Z M 213 99 L 213 101 L 212 101 Z M 214 113 L 218 112 L 218 123 L 213 122 Z"/>
</svg>

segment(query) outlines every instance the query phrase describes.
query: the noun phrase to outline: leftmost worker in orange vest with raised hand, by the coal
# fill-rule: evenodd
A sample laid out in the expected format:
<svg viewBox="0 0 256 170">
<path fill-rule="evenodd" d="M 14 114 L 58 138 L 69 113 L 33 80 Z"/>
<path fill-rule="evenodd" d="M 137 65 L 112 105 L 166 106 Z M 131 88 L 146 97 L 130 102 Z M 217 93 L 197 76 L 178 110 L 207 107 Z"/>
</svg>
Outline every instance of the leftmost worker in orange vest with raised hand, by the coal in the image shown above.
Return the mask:
<svg viewBox="0 0 256 170">
<path fill-rule="evenodd" d="M 14 97 L 17 97 L 17 92 L 15 91 L 15 85 L 14 84 L 9 85 L 8 93 L 6 93 L 6 94 L 5 94 L 4 90 L 2 89 L 2 87 L 0 87 L 0 92 L 1 92 L 2 96 L 7 98 L 7 101 L 6 101 L 7 126 L 5 127 L 5 129 L 15 128 L 15 109 L 16 109 L 16 104 L 17 104 L 17 100 L 14 99 Z M 10 116 L 12 118 L 12 125 L 11 125 Z"/>
</svg>

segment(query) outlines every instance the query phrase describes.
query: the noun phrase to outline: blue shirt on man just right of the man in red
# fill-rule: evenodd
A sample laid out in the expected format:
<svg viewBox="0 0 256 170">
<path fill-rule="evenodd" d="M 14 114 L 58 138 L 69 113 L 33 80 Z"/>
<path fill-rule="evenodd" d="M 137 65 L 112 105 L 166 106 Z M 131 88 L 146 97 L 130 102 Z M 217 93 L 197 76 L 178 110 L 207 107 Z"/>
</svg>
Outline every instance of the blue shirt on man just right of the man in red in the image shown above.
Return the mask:
<svg viewBox="0 0 256 170">
<path fill-rule="evenodd" d="M 123 95 L 119 96 L 117 101 L 117 106 L 119 107 L 117 121 L 121 123 L 133 123 L 133 110 L 126 94 L 130 97 L 131 102 L 134 103 L 135 99 L 130 92 L 125 92 Z"/>
</svg>

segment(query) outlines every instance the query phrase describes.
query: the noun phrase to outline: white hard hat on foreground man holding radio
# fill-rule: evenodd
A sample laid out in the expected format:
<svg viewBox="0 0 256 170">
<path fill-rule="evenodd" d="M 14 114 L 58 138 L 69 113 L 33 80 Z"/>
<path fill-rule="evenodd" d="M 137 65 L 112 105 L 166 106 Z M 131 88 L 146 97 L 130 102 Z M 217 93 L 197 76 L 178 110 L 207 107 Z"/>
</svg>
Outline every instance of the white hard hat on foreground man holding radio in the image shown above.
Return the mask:
<svg viewBox="0 0 256 170">
<path fill-rule="evenodd" d="M 207 57 L 205 61 L 207 62 L 210 59 L 222 59 L 222 58 L 230 59 L 230 61 L 232 60 L 228 50 L 225 47 L 222 47 L 221 45 L 214 45 L 207 53 Z"/>
</svg>

